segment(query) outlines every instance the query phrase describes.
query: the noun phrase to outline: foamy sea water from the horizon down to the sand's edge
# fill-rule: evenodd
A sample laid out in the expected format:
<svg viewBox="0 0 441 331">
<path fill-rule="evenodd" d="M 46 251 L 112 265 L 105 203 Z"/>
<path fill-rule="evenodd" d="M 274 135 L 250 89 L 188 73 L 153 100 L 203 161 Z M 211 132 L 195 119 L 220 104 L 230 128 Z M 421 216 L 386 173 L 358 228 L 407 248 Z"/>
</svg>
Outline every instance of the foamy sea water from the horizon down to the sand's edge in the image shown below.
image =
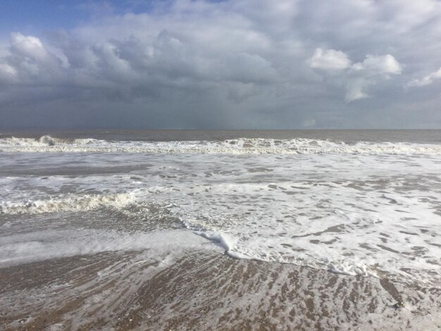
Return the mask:
<svg viewBox="0 0 441 331">
<path fill-rule="evenodd" d="M 439 287 L 440 235 L 436 130 L 0 136 L 0 267 L 196 247 Z"/>
</svg>

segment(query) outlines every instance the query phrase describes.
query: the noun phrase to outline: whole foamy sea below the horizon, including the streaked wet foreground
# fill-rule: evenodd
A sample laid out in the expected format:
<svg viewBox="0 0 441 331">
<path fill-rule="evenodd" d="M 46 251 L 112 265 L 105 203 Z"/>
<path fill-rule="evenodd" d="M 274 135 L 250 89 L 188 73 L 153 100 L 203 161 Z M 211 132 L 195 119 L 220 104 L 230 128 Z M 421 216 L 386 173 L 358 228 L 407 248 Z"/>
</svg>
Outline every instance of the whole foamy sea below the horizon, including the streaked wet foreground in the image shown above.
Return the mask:
<svg viewBox="0 0 441 331">
<path fill-rule="evenodd" d="M 441 130 L 0 133 L 0 329 L 440 330 Z"/>
</svg>

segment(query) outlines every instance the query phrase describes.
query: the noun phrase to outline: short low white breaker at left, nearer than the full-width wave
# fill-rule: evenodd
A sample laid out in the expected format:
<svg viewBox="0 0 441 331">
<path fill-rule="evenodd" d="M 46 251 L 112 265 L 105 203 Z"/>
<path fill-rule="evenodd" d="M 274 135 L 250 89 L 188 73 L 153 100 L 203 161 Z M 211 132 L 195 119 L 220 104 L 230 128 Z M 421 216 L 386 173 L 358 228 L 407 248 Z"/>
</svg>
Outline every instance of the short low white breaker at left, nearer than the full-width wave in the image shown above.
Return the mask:
<svg viewBox="0 0 441 331">
<path fill-rule="evenodd" d="M 36 214 L 66 211 L 90 211 L 99 207 L 121 208 L 132 204 L 135 196 L 122 194 L 86 194 L 82 196 L 68 195 L 63 198 L 25 201 L 1 201 L 0 214 Z"/>
</svg>

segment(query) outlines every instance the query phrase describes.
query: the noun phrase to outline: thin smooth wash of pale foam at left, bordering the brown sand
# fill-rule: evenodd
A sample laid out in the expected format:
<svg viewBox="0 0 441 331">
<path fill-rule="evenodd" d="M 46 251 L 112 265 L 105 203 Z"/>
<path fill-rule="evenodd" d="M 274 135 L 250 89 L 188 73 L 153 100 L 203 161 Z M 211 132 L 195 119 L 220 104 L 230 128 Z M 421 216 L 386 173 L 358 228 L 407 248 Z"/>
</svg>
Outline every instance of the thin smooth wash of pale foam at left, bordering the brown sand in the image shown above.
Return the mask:
<svg viewBox="0 0 441 331">
<path fill-rule="evenodd" d="M 46 230 L 0 237 L 0 267 L 104 251 L 151 250 L 151 256 L 206 246 L 203 238 L 185 230 L 125 233 L 108 230 Z M 208 246 L 206 249 L 216 250 Z"/>
</svg>

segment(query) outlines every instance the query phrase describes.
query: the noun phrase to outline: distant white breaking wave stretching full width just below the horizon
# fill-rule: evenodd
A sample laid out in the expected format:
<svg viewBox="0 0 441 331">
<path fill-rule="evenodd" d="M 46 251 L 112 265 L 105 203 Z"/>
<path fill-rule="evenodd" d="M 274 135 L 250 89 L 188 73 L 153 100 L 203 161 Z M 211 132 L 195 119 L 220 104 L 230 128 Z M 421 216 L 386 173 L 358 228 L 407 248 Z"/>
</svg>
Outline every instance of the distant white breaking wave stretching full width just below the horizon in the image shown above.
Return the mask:
<svg viewBox="0 0 441 331">
<path fill-rule="evenodd" d="M 0 139 L 3 152 L 189 153 L 189 154 L 441 154 L 441 145 L 405 142 L 357 142 L 330 139 L 238 138 L 223 141 L 127 142 L 99 139 Z"/>
</svg>

